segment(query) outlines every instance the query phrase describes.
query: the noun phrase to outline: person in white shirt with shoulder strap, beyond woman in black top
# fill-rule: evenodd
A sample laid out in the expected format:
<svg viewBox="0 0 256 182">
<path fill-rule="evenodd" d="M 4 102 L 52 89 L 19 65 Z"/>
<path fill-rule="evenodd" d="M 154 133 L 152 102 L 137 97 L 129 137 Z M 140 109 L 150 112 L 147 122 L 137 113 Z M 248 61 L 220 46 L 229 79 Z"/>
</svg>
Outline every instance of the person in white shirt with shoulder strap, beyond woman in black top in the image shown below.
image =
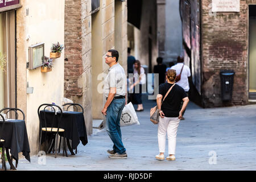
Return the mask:
<svg viewBox="0 0 256 182">
<path fill-rule="evenodd" d="M 185 92 L 188 94 L 189 91 L 189 82 L 188 77 L 191 76 L 190 69 L 187 65 L 184 64 L 184 57 L 177 57 L 177 64 L 172 66 L 171 69 L 175 69 L 177 75 L 181 74 L 180 80 L 176 82 L 177 85 L 181 86 Z M 181 72 L 182 70 L 182 72 Z M 181 105 L 183 104 L 183 101 L 181 101 Z M 185 110 L 182 115 L 184 115 Z M 184 117 L 181 118 L 181 120 L 185 119 Z"/>
</svg>

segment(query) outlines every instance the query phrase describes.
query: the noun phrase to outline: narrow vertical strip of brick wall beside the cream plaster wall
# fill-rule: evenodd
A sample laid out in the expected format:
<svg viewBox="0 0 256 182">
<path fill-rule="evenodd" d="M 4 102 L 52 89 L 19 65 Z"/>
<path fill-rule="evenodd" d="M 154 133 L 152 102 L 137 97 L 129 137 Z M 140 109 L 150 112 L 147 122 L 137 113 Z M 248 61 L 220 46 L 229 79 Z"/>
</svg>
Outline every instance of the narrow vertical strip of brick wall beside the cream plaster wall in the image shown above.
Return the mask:
<svg viewBox="0 0 256 182">
<path fill-rule="evenodd" d="M 82 69 L 81 0 L 65 0 L 65 73 L 64 97 L 77 101 L 82 88 L 77 80 Z"/>
</svg>

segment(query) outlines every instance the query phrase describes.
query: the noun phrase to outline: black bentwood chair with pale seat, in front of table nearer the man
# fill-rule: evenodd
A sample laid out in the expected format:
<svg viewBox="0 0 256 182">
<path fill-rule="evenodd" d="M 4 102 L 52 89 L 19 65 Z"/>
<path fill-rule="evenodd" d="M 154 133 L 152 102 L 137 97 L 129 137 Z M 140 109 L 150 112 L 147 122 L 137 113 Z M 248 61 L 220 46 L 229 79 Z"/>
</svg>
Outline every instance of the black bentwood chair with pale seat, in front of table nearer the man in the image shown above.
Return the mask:
<svg viewBox="0 0 256 182">
<path fill-rule="evenodd" d="M 43 114 L 40 114 L 40 108 L 44 106 L 43 108 Z M 46 108 L 52 108 L 54 113 L 53 117 L 52 117 L 52 121 L 51 121 L 51 126 L 47 125 L 47 121 L 46 121 Z M 55 107 L 57 107 L 60 112 L 57 114 Z M 57 142 L 58 142 L 58 136 L 59 136 L 59 132 L 64 133 L 64 129 L 60 128 L 60 122 L 61 122 L 61 118 L 62 118 L 62 114 L 63 111 L 61 110 L 60 106 L 57 105 L 53 105 L 53 104 L 42 104 L 38 107 L 38 117 L 39 117 L 39 122 L 40 122 L 40 135 L 39 135 L 39 151 L 40 151 L 40 147 L 41 147 L 41 142 L 42 142 L 42 133 L 45 133 L 45 140 L 44 140 L 44 151 L 47 153 L 51 153 L 51 151 L 55 152 L 55 158 L 57 157 Z M 48 121 L 49 122 L 49 121 Z M 43 127 L 44 124 L 44 127 Z M 48 149 L 46 149 L 46 143 L 47 143 L 47 133 L 49 133 L 51 135 L 51 139 L 52 142 L 50 142 Z M 65 133 L 63 134 L 64 138 L 65 138 Z M 52 143 L 52 144 L 51 144 Z M 65 150 L 65 140 L 63 142 L 63 156 L 64 156 L 64 152 L 67 156 L 67 151 Z"/>
</svg>

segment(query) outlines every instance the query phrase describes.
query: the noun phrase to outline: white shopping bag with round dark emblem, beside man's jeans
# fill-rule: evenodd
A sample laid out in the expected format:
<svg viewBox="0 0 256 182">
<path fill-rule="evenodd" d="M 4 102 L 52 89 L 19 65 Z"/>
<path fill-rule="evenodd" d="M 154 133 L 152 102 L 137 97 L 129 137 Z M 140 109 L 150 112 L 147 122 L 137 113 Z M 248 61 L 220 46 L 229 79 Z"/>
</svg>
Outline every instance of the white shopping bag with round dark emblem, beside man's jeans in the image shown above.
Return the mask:
<svg viewBox="0 0 256 182">
<path fill-rule="evenodd" d="M 123 107 L 120 126 L 139 125 L 139 120 L 136 111 L 131 102 Z"/>
</svg>

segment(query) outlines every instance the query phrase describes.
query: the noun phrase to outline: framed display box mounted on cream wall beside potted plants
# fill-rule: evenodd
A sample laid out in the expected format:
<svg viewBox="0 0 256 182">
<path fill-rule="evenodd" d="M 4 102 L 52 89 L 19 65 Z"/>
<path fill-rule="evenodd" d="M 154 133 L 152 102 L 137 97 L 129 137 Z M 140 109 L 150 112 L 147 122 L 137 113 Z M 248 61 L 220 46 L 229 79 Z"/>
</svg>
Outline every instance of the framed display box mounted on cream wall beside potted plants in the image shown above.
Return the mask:
<svg viewBox="0 0 256 182">
<path fill-rule="evenodd" d="M 44 63 L 44 43 L 28 47 L 28 69 L 41 67 Z"/>
</svg>

